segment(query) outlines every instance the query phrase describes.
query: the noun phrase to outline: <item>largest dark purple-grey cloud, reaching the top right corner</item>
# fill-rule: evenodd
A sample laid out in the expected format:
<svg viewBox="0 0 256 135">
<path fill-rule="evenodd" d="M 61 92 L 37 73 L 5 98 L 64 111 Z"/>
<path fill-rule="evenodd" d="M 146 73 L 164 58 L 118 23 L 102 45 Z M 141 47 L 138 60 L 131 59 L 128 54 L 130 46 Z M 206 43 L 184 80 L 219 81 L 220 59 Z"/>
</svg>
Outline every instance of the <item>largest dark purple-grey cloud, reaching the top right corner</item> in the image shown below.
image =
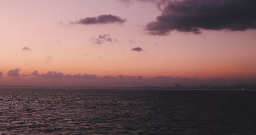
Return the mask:
<svg viewBox="0 0 256 135">
<path fill-rule="evenodd" d="M 146 25 L 148 34 L 168 35 L 173 30 L 200 34 L 200 29 L 256 29 L 254 0 L 183 0 L 168 1 L 165 5 L 161 15 Z"/>
</svg>

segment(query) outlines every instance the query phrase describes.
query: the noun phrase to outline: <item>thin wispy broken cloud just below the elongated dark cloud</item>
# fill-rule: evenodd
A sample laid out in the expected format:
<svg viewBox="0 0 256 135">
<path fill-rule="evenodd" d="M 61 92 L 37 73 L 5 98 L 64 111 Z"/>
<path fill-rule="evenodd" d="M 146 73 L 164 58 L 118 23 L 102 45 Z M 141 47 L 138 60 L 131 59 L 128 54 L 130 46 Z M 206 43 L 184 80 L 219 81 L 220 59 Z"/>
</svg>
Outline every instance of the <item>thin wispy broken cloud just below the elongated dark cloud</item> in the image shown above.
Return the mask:
<svg viewBox="0 0 256 135">
<path fill-rule="evenodd" d="M 90 39 L 93 44 L 104 44 L 105 42 L 119 42 L 116 38 L 112 38 L 110 34 L 99 35 Z"/>
</svg>

